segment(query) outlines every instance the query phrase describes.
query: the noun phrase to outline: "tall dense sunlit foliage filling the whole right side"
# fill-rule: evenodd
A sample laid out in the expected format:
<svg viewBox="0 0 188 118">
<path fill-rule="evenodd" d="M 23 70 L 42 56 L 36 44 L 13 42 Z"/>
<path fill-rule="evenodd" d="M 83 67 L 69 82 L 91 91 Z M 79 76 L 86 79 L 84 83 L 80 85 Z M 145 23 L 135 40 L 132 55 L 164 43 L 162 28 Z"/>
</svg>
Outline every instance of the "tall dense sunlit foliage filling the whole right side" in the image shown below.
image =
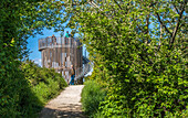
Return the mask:
<svg viewBox="0 0 188 118">
<path fill-rule="evenodd" d="M 92 79 L 108 88 L 105 117 L 187 116 L 187 0 L 67 3 L 67 26 L 94 62 Z"/>
</svg>

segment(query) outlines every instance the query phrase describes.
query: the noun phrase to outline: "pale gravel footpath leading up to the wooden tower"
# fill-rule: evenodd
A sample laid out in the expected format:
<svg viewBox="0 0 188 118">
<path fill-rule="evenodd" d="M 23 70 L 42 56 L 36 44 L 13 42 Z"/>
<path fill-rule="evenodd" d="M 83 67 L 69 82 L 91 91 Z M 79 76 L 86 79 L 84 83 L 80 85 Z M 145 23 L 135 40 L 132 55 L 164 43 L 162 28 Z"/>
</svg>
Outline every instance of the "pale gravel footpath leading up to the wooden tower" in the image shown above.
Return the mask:
<svg viewBox="0 0 188 118">
<path fill-rule="evenodd" d="M 84 85 L 66 87 L 42 109 L 40 118 L 85 118 L 81 104 L 83 87 Z"/>
</svg>

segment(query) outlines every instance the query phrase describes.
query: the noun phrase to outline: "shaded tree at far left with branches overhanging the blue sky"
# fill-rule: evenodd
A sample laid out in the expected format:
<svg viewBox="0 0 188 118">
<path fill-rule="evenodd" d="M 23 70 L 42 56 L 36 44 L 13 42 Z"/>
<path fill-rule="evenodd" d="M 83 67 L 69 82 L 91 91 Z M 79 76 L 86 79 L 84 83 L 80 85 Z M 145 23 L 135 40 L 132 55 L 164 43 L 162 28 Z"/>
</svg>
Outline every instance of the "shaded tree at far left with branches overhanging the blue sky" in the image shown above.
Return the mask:
<svg viewBox="0 0 188 118">
<path fill-rule="evenodd" d="M 61 2 L 44 0 L 1 0 L 0 4 L 0 116 L 27 116 L 30 86 L 20 68 L 27 57 L 27 39 L 45 28 L 63 29 Z M 34 96 L 33 96 L 34 97 Z M 28 98 L 29 99 L 29 98 Z"/>
</svg>

